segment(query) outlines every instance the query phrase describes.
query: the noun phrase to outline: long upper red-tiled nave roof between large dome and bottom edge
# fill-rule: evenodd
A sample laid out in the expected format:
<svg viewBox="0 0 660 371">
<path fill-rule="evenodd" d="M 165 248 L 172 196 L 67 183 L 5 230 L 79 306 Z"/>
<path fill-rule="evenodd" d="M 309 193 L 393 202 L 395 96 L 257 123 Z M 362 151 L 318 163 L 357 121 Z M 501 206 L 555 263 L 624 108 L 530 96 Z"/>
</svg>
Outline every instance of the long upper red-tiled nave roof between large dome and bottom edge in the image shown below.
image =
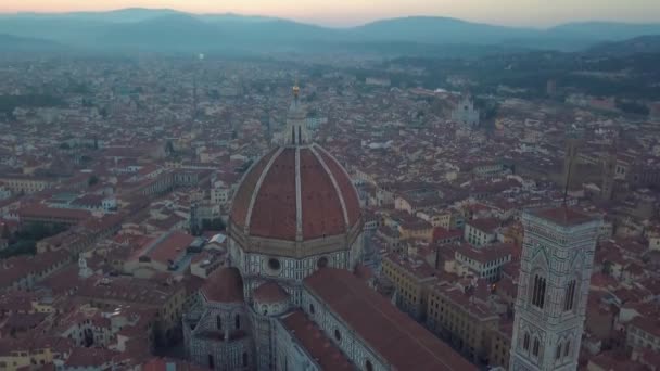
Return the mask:
<svg viewBox="0 0 660 371">
<path fill-rule="evenodd" d="M 304 284 L 394 369 L 477 370 L 348 271 L 319 269 Z"/>
</svg>

